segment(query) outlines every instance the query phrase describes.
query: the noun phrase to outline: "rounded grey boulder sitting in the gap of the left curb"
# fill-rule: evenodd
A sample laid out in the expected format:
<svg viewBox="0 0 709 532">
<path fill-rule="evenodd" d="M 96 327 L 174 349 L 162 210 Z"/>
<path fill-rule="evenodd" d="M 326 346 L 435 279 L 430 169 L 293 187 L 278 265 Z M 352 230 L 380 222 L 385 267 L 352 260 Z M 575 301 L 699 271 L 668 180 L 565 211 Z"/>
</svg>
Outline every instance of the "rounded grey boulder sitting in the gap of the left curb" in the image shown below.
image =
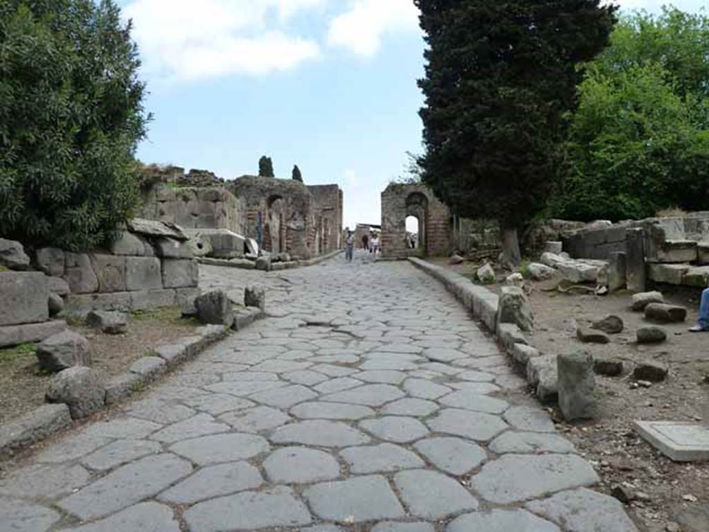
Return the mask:
<svg viewBox="0 0 709 532">
<path fill-rule="evenodd" d="M 104 408 L 106 390 L 99 373 L 90 367 L 74 366 L 52 377 L 47 391 L 50 403 L 65 403 L 73 419 L 90 416 Z"/>
</svg>

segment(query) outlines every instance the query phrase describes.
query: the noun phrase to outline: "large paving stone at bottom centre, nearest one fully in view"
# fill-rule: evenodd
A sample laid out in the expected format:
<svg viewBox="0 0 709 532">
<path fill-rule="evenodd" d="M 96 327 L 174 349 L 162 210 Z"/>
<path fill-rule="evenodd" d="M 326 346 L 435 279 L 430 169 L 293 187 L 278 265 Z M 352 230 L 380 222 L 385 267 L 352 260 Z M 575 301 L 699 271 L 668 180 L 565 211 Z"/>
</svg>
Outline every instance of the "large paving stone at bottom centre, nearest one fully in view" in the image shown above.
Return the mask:
<svg viewBox="0 0 709 532">
<path fill-rule="evenodd" d="M 404 511 L 384 477 L 357 477 L 316 484 L 303 492 L 321 519 L 360 523 L 403 517 Z"/>
</svg>

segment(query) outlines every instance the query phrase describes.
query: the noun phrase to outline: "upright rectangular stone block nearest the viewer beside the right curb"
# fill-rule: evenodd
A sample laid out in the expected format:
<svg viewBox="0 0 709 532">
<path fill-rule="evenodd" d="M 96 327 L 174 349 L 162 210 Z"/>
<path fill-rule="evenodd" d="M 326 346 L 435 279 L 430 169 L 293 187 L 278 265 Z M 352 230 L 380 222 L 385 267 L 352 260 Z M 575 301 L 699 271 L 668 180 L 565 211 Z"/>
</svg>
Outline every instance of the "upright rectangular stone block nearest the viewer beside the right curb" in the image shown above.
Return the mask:
<svg viewBox="0 0 709 532">
<path fill-rule="evenodd" d="M 559 408 L 566 421 L 593 419 L 596 416 L 596 377 L 593 357 L 586 351 L 557 357 Z"/>
</svg>

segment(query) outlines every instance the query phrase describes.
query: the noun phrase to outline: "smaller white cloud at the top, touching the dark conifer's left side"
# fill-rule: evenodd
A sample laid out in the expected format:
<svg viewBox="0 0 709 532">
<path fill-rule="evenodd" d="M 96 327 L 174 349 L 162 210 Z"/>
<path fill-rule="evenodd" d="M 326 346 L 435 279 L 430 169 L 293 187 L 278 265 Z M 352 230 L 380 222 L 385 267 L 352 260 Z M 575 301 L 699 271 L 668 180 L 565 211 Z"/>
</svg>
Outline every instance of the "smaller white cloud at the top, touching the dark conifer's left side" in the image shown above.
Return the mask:
<svg viewBox="0 0 709 532">
<path fill-rule="evenodd" d="M 385 33 L 418 31 L 412 0 L 350 0 L 349 9 L 330 23 L 328 45 L 372 56 Z"/>
</svg>

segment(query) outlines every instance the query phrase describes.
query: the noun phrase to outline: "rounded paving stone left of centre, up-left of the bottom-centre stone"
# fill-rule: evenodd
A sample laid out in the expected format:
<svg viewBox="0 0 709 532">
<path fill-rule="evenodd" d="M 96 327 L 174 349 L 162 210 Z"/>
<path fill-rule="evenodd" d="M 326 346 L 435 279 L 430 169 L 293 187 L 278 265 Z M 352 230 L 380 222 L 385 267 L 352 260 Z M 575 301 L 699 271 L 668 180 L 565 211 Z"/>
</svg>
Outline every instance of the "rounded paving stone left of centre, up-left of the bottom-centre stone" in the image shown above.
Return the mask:
<svg viewBox="0 0 709 532">
<path fill-rule="evenodd" d="M 271 482 L 283 484 L 309 484 L 340 476 L 340 465 L 335 458 L 321 450 L 305 447 L 275 450 L 263 465 Z"/>
</svg>

